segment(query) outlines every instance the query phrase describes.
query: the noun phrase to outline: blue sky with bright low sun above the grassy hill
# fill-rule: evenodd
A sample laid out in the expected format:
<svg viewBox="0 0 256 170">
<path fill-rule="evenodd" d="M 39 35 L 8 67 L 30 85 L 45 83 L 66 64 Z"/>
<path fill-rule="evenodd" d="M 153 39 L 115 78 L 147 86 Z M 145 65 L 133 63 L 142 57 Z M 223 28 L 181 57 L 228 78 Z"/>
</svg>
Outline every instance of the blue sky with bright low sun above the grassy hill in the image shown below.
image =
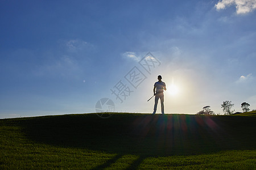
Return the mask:
<svg viewBox="0 0 256 170">
<path fill-rule="evenodd" d="M 102 98 L 115 112 L 151 113 L 158 75 L 166 113 L 210 105 L 223 114 L 225 100 L 237 112 L 244 101 L 256 109 L 255 8 L 254 0 L 1 1 L 0 118 L 92 113 Z M 148 52 L 159 61 L 150 73 L 139 64 Z M 136 88 L 127 80 L 134 67 L 144 75 Z M 130 90 L 122 103 L 111 91 L 119 81 Z"/>
</svg>

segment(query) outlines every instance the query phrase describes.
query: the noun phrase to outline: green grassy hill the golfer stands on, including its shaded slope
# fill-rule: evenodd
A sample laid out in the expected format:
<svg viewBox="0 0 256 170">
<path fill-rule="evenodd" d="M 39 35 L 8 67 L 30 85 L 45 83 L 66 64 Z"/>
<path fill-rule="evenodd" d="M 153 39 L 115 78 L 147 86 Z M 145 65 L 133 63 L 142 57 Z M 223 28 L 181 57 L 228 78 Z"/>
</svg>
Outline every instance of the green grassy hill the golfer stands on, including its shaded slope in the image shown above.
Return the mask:
<svg viewBox="0 0 256 170">
<path fill-rule="evenodd" d="M 253 169 L 255 122 L 138 113 L 5 119 L 0 169 Z"/>
</svg>

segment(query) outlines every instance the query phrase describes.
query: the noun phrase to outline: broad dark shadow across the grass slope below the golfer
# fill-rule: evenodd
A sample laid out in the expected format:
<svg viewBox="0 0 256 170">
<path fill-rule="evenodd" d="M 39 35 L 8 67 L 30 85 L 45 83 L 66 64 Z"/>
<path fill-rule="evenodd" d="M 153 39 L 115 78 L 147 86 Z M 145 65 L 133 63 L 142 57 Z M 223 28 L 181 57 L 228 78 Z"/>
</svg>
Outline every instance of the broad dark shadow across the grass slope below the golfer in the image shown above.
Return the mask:
<svg viewBox="0 0 256 170">
<path fill-rule="evenodd" d="M 20 124 L 36 142 L 146 158 L 255 148 L 255 121 L 243 116 L 124 113 L 105 119 L 96 114 L 36 117 Z"/>
</svg>

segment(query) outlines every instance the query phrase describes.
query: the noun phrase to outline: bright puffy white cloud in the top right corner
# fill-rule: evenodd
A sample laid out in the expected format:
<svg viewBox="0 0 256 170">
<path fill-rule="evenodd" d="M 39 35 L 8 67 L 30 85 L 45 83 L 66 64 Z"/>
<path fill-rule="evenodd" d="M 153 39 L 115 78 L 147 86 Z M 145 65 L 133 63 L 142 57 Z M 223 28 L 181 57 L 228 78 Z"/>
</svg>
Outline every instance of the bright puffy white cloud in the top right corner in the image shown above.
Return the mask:
<svg viewBox="0 0 256 170">
<path fill-rule="evenodd" d="M 232 5 L 236 6 L 237 14 L 246 14 L 256 8 L 256 0 L 221 0 L 215 7 L 217 10 L 223 10 Z"/>
</svg>

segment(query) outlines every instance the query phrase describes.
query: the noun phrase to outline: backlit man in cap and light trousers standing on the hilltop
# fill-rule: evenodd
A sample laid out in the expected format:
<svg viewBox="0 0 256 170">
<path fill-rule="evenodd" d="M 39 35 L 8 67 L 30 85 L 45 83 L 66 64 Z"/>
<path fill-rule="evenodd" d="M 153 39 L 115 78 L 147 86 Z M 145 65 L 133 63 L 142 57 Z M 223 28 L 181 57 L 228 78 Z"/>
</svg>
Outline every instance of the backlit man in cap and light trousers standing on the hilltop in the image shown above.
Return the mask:
<svg viewBox="0 0 256 170">
<path fill-rule="evenodd" d="M 160 102 L 161 102 L 161 111 L 162 114 L 164 114 L 164 95 L 163 95 L 163 90 L 166 90 L 166 83 L 162 82 L 162 76 L 158 76 L 158 82 L 155 82 L 154 84 L 154 96 L 155 96 L 155 105 L 154 105 L 154 112 L 153 114 L 155 114 L 156 112 L 156 108 L 158 107 L 158 100 L 160 98 Z"/>
</svg>

